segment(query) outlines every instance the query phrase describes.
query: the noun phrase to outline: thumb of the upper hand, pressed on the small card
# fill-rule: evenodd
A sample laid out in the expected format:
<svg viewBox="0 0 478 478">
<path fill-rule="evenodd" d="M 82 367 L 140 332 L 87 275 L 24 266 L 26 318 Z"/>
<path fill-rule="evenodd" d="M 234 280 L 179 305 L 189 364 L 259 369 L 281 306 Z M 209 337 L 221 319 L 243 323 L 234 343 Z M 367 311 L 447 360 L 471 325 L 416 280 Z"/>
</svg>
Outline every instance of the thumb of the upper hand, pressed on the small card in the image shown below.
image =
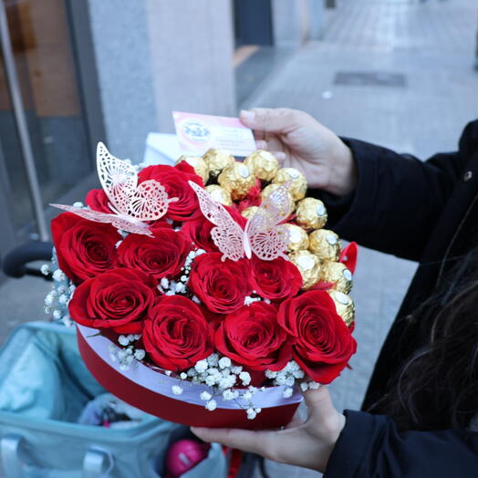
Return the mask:
<svg viewBox="0 0 478 478">
<path fill-rule="evenodd" d="M 243 109 L 239 118 L 252 130 L 286 133 L 296 128 L 297 112 L 296 109 L 288 108 Z"/>
</svg>

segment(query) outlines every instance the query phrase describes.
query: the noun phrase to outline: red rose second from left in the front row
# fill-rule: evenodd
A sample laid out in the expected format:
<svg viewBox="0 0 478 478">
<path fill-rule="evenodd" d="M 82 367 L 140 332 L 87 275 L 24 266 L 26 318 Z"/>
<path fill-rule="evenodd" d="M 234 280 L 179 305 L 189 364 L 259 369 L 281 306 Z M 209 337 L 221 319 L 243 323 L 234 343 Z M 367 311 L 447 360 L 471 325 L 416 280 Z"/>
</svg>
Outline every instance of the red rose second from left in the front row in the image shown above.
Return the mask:
<svg viewBox="0 0 478 478">
<path fill-rule="evenodd" d="M 144 348 L 162 369 L 181 371 L 213 353 L 213 328 L 184 296 L 164 296 L 144 323 Z"/>
</svg>

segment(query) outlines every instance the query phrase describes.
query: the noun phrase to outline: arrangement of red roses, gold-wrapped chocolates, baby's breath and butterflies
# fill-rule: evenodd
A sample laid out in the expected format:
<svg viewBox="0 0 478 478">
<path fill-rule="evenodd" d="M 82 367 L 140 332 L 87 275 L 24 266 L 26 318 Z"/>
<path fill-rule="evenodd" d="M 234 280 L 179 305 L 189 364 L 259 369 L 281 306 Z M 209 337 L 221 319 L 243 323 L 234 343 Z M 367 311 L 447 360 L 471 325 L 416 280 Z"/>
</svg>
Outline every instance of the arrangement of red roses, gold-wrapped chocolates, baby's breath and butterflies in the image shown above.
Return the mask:
<svg viewBox="0 0 478 478">
<path fill-rule="evenodd" d="M 338 377 L 356 351 L 357 248 L 324 229 L 300 171 L 267 151 L 133 166 L 101 143 L 97 163 L 86 205 L 54 204 L 48 313 L 108 338 L 121 373 L 172 379 L 174 399 L 201 386 L 205 410 L 255 419 L 261 392 L 280 406 Z"/>
</svg>

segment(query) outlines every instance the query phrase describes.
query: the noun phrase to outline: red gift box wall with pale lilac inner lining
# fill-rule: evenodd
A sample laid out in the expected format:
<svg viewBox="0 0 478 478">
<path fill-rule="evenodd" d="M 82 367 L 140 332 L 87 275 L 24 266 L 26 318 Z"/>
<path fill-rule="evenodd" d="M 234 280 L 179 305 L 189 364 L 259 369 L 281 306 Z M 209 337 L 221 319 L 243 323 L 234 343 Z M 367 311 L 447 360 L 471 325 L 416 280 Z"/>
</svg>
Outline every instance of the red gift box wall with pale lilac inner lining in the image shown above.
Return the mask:
<svg viewBox="0 0 478 478">
<path fill-rule="evenodd" d="M 199 395 L 203 390 L 213 395 L 211 387 L 168 377 L 140 362 L 121 370 L 109 356 L 109 347 L 114 345 L 109 338 L 99 335 L 97 329 L 80 325 L 77 332 L 79 352 L 93 377 L 120 400 L 163 420 L 196 427 L 274 429 L 292 420 L 302 400 L 297 390 L 285 399 L 285 387 L 266 387 L 253 399 L 255 407 L 262 409 L 254 420 L 247 419 L 244 408 L 235 400 L 214 397 L 217 408 L 206 410 Z M 175 396 L 171 387 L 178 384 L 185 392 Z"/>
</svg>

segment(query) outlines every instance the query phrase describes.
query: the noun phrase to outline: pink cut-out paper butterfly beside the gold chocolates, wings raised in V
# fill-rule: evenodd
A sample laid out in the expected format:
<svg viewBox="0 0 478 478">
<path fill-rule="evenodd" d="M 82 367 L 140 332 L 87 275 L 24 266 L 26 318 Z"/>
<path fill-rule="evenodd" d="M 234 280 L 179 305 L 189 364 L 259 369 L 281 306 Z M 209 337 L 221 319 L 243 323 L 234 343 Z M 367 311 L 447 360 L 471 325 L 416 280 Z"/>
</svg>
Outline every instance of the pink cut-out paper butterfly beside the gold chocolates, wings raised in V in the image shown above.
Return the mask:
<svg viewBox="0 0 478 478">
<path fill-rule="evenodd" d="M 280 225 L 290 214 L 286 185 L 278 187 L 262 202 L 243 230 L 223 204 L 215 202 L 209 192 L 195 182 L 189 183 L 198 197 L 204 217 L 215 225 L 211 236 L 223 253 L 223 261 L 238 261 L 244 255 L 250 259 L 252 253 L 264 261 L 273 261 L 277 257 L 287 259 L 289 234 L 286 227 Z"/>
</svg>

